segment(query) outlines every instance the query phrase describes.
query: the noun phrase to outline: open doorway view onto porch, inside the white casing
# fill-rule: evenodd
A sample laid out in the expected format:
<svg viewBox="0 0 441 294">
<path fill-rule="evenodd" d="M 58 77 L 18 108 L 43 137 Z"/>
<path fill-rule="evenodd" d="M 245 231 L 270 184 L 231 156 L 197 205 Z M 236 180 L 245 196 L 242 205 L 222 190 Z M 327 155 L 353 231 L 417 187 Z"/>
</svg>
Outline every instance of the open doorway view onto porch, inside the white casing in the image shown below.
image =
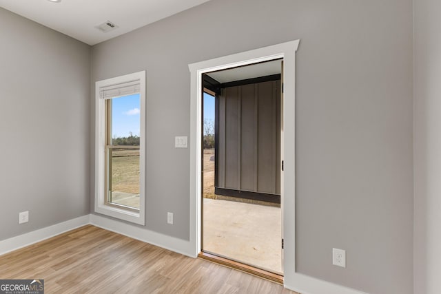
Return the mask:
<svg viewBox="0 0 441 294">
<path fill-rule="evenodd" d="M 201 251 L 283 275 L 283 59 L 203 74 Z"/>
</svg>

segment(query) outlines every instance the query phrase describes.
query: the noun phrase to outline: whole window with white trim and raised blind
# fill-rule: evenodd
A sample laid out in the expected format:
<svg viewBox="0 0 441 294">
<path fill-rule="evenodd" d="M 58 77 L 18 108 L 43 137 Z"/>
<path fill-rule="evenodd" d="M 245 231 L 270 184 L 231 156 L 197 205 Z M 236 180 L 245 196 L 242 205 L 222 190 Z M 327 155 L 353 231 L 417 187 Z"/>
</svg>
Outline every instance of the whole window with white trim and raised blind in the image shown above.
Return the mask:
<svg viewBox="0 0 441 294">
<path fill-rule="evenodd" d="M 145 72 L 96 82 L 95 211 L 145 224 Z"/>
</svg>

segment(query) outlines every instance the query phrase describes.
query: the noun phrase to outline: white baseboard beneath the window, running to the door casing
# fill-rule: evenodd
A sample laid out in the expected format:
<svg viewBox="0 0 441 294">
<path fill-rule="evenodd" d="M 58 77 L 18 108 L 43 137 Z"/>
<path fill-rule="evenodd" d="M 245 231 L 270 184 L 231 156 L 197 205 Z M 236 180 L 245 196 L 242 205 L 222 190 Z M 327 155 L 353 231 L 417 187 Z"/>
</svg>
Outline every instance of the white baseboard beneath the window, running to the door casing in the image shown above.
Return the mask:
<svg viewBox="0 0 441 294">
<path fill-rule="evenodd" d="M 169 235 L 163 235 L 154 231 L 149 231 L 140 227 L 136 227 L 132 224 L 127 224 L 119 220 L 112 220 L 110 218 L 104 218 L 96 214 L 90 214 L 90 224 L 96 227 L 106 229 L 127 237 L 140 240 L 163 249 L 168 249 L 176 253 L 187 255 L 191 258 L 196 258 L 194 255 L 194 247 L 189 241 L 170 237 Z"/>
</svg>

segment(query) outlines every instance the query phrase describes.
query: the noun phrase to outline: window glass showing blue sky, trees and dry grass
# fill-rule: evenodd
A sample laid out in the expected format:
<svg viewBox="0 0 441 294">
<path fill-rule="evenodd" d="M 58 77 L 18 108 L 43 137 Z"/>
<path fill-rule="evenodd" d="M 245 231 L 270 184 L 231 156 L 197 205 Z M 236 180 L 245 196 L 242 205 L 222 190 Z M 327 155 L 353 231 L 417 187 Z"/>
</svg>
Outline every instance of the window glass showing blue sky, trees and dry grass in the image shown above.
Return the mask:
<svg viewBox="0 0 441 294">
<path fill-rule="evenodd" d="M 139 209 L 140 96 L 112 98 L 107 105 L 107 201 Z"/>
</svg>

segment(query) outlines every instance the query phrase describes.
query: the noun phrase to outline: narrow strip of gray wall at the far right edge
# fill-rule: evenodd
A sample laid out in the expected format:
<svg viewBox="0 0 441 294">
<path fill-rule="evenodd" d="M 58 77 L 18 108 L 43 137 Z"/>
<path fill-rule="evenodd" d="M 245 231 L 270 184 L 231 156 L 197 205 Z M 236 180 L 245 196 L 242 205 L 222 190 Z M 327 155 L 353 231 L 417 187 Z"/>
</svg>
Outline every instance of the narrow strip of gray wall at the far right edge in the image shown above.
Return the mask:
<svg viewBox="0 0 441 294">
<path fill-rule="evenodd" d="M 416 294 L 441 289 L 441 2 L 415 0 Z"/>
</svg>

